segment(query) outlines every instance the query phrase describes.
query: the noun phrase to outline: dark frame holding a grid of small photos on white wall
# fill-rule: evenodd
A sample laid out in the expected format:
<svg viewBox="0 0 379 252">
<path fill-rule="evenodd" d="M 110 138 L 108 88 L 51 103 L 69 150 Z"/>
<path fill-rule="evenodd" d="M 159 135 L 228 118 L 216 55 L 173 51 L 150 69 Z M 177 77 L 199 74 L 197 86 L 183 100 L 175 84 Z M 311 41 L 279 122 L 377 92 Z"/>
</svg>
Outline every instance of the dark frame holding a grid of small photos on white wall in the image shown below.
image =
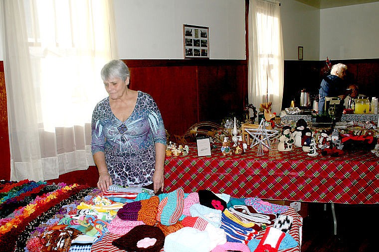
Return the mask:
<svg viewBox="0 0 379 252">
<path fill-rule="evenodd" d="M 197 25 L 183 25 L 185 59 L 209 59 L 209 28 Z"/>
</svg>

